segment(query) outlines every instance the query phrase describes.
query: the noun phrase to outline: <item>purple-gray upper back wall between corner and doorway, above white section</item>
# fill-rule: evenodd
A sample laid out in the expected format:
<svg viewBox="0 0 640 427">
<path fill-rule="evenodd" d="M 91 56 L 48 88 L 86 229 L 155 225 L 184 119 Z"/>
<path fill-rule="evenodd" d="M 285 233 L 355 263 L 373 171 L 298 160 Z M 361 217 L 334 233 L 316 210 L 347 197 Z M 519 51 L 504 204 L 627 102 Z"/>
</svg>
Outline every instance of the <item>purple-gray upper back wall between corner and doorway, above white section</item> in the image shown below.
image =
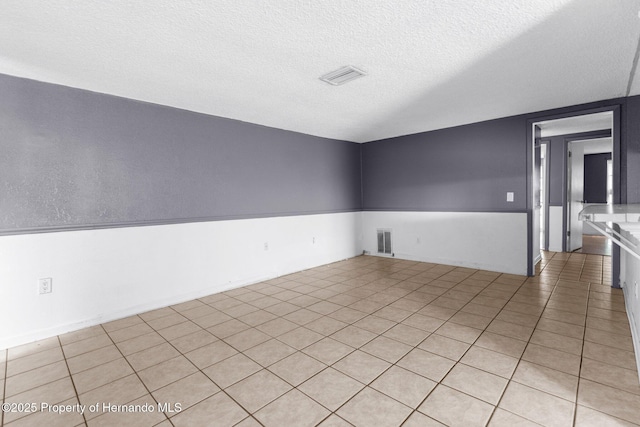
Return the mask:
<svg viewBox="0 0 640 427">
<path fill-rule="evenodd" d="M 526 120 L 516 116 L 365 144 L 363 207 L 525 211 L 525 141 Z"/>
</svg>

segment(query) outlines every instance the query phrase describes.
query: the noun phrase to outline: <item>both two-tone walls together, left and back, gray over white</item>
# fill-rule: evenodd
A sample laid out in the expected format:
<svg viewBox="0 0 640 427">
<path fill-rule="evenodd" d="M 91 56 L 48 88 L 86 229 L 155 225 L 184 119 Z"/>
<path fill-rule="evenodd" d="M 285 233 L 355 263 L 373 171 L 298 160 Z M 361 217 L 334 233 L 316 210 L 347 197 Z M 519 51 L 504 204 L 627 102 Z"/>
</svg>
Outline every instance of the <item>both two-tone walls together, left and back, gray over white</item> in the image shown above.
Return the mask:
<svg viewBox="0 0 640 427">
<path fill-rule="evenodd" d="M 375 253 L 378 228 L 399 258 L 526 274 L 527 127 L 554 114 L 620 107 L 640 201 L 639 97 L 360 145 L 9 76 L 0 93 L 0 348 Z"/>
</svg>

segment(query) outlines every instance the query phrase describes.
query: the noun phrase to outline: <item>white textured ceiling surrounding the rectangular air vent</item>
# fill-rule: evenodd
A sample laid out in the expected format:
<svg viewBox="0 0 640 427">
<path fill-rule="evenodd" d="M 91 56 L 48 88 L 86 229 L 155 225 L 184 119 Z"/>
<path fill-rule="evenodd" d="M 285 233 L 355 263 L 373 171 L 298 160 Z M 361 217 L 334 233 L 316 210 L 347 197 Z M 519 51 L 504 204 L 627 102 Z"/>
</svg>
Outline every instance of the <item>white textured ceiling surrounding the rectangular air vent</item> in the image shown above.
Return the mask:
<svg viewBox="0 0 640 427">
<path fill-rule="evenodd" d="M 629 85 L 640 94 L 639 10 L 640 0 L 2 0 L 0 73 L 365 142 Z M 318 79 L 348 64 L 368 75 Z"/>
</svg>

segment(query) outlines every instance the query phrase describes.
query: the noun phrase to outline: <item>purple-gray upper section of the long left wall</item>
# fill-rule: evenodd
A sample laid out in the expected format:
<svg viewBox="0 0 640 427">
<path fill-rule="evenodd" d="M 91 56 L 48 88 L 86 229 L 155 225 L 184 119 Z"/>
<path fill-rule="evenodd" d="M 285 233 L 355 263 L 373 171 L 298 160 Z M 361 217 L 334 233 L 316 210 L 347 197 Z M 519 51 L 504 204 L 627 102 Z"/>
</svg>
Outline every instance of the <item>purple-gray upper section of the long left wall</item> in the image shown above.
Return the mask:
<svg viewBox="0 0 640 427">
<path fill-rule="evenodd" d="M 0 75 L 0 233 L 361 209 L 360 146 Z"/>
</svg>

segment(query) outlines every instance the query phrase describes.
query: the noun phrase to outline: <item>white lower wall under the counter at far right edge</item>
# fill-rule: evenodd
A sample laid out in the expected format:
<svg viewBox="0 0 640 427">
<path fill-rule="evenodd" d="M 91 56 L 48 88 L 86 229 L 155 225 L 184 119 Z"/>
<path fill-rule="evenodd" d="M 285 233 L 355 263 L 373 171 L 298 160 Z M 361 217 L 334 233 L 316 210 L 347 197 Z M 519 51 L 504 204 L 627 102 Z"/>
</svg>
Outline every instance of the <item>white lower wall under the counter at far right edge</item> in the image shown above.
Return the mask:
<svg viewBox="0 0 640 427">
<path fill-rule="evenodd" d="M 622 235 L 632 241 L 635 240 L 628 232 L 623 232 Z M 620 250 L 620 283 L 631 326 L 636 365 L 640 372 L 640 260 L 622 249 Z"/>
</svg>

